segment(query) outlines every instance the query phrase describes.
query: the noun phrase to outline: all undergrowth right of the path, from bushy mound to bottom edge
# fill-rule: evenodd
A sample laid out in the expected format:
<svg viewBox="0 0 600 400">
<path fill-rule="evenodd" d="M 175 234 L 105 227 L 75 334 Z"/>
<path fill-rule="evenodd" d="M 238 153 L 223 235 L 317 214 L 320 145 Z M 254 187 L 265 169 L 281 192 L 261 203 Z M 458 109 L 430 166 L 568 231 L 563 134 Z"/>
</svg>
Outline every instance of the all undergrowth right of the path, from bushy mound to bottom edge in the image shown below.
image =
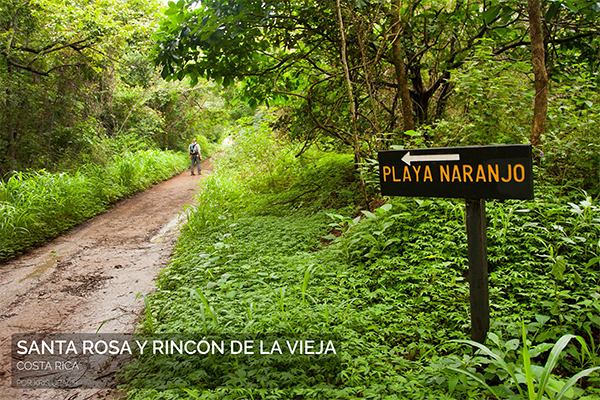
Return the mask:
<svg viewBox="0 0 600 400">
<path fill-rule="evenodd" d="M 598 365 L 596 200 L 565 195 L 538 169 L 536 200 L 488 202 L 486 344 L 516 371 L 517 384 L 453 341 L 468 338 L 470 326 L 464 204 L 396 198 L 359 212 L 355 190 L 332 196 L 352 182 L 350 156 L 291 158 L 298 149 L 259 122 L 236 134 L 189 210 L 175 258 L 148 299 L 144 331 L 333 338 L 338 358 L 309 367 L 289 355 L 145 356 L 126 374 L 128 398 L 489 398 L 455 369 L 510 398 L 527 392 L 528 371 L 540 381 L 565 333 L 579 336 L 559 351 L 542 387 L 547 396 Z M 317 190 L 301 195 L 316 181 Z M 598 395 L 596 372 L 565 398 Z"/>
</svg>

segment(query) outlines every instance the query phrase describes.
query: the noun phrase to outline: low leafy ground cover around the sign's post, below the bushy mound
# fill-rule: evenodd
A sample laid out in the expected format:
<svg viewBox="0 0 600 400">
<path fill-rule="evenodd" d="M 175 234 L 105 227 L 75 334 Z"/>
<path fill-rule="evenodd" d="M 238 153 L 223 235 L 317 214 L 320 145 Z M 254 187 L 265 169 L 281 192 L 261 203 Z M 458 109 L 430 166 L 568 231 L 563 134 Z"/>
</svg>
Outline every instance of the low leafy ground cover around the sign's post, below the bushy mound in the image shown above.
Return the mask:
<svg viewBox="0 0 600 400">
<path fill-rule="evenodd" d="M 232 185 L 222 192 L 240 195 L 233 209 L 229 195 L 218 197 L 223 186 L 217 182 Z M 469 335 L 461 202 L 398 198 L 358 218 L 344 216 L 344 210 L 314 216 L 274 210 L 275 215 L 258 216 L 248 212 L 256 211 L 249 204 L 255 198 L 235 188 L 235 181 L 222 177 L 207 187 L 226 203 L 217 203 L 222 212 L 202 229 L 185 231 L 152 296 L 153 329 L 228 337 L 337 335 L 340 375 L 325 385 L 294 370 L 297 384 L 290 386 L 281 375 L 288 370 L 279 369 L 284 364 L 258 369 L 252 362 L 200 365 L 186 358 L 160 365 L 151 358 L 130 371 L 137 385 L 130 399 L 483 398 L 484 385 L 444 374 L 444 368 L 481 366 L 488 368 L 481 379 L 506 379 L 452 341 Z M 246 214 L 240 213 L 244 206 L 249 206 Z M 565 332 L 589 344 L 589 351 L 565 348 L 551 383 L 566 382 L 600 357 L 598 212 L 585 197 L 488 203 L 490 337 L 514 337 L 525 320 L 528 346 L 538 355 L 547 354 L 548 343 Z M 191 224 L 199 224 L 190 217 Z M 338 235 L 322 247 L 320 238 L 331 228 Z M 233 372 L 220 374 L 211 365 Z M 173 380 L 182 386 L 168 383 Z M 600 391 L 596 375 L 582 382 L 569 393 Z"/>
</svg>

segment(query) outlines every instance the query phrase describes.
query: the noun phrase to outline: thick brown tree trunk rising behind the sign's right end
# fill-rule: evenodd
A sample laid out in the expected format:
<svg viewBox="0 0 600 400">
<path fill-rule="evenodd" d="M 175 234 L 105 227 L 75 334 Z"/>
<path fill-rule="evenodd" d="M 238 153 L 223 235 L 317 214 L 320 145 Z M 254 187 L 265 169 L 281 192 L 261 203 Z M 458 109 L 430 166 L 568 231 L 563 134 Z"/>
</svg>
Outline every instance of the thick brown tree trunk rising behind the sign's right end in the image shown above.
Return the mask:
<svg viewBox="0 0 600 400">
<path fill-rule="evenodd" d="M 546 71 L 546 49 L 542 34 L 540 0 L 527 0 L 529 8 L 529 36 L 531 37 L 531 64 L 535 78 L 535 101 L 533 104 L 533 124 L 530 142 L 541 145 L 541 135 L 546 129 L 548 108 L 548 73 Z"/>
</svg>

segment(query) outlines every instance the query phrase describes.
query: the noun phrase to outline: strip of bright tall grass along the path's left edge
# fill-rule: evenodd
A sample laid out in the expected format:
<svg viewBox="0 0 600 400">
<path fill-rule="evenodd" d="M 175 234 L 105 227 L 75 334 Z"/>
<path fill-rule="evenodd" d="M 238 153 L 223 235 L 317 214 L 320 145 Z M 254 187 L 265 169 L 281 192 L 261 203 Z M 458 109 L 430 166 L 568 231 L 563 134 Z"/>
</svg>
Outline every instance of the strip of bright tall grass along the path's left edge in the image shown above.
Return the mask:
<svg viewBox="0 0 600 400">
<path fill-rule="evenodd" d="M 16 173 L 0 181 L 0 261 L 46 242 L 108 205 L 183 171 L 183 153 L 124 153 L 73 172 Z"/>
</svg>

